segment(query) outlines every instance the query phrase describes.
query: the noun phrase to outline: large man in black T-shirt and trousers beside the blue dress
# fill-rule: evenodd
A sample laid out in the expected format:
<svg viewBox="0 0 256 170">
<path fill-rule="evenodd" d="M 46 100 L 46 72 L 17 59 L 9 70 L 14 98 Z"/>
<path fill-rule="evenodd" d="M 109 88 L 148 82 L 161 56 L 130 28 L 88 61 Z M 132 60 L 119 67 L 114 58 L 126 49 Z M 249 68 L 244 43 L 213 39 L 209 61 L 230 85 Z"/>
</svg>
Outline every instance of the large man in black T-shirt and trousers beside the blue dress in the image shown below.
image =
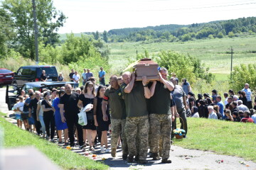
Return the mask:
<svg viewBox="0 0 256 170">
<path fill-rule="evenodd" d="M 65 84 L 65 94 L 60 97 L 60 115 L 63 123 L 67 122 L 70 147 L 75 147 L 74 125 L 78 130 L 78 142 L 80 148 L 84 146 L 82 139 L 82 126 L 78 124 L 78 100 L 79 94 L 71 91 L 71 84 Z M 64 113 L 65 111 L 65 113 Z"/>
</svg>

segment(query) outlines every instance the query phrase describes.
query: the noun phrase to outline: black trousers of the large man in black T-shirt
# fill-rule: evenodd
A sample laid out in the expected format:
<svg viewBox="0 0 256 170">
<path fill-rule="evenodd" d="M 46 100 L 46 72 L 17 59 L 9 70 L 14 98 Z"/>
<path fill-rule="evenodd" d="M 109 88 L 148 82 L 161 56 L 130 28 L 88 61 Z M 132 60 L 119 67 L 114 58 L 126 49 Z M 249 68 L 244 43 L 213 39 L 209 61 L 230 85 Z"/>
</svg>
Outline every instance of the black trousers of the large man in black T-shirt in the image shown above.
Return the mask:
<svg viewBox="0 0 256 170">
<path fill-rule="evenodd" d="M 78 115 L 65 115 L 65 119 L 68 125 L 68 137 L 70 138 L 70 146 L 75 145 L 75 137 L 74 137 L 74 125 L 75 128 L 78 130 L 78 142 L 79 145 L 83 145 L 83 138 L 82 138 L 82 126 L 78 124 Z"/>
</svg>

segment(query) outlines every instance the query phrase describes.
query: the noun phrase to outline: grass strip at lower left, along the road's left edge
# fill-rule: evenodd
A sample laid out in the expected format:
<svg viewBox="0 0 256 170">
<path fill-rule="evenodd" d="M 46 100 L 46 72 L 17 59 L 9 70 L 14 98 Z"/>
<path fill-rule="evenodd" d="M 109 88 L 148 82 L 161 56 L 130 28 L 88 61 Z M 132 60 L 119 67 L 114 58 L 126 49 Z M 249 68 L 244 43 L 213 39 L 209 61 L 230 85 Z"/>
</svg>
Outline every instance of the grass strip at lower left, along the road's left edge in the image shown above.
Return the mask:
<svg viewBox="0 0 256 170">
<path fill-rule="evenodd" d="M 7 122 L 0 113 L 0 126 L 4 128 L 4 147 L 34 146 L 62 169 L 108 169 L 109 166 L 82 157 L 67 149 L 62 149 L 53 143 L 17 128 Z"/>
</svg>

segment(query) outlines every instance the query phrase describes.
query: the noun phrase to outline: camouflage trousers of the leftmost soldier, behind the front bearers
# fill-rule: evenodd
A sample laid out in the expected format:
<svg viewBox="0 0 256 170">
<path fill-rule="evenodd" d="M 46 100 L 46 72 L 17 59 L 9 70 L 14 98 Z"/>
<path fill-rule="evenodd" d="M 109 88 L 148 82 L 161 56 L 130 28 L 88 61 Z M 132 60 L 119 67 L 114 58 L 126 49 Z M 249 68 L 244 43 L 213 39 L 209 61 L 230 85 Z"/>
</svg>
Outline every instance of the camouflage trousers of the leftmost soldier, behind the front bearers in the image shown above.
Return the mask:
<svg viewBox="0 0 256 170">
<path fill-rule="evenodd" d="M 126 120 L 111 119 L 111 147 L 117 148 L 119 136 L 122 139 L 122 154 L 128 154 L 127 140 L 124 135 L 124 127 Z"/>
</svg>

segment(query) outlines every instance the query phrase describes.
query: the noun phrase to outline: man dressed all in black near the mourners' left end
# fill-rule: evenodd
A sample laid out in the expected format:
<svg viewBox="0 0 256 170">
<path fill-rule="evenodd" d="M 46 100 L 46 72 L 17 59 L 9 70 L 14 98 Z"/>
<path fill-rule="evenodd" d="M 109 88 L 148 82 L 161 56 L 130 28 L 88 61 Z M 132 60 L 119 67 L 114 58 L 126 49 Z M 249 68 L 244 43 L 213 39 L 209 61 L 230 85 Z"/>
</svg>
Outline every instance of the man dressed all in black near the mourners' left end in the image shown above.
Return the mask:
<svg viewBox="0 0 256 170">
<path fill-rule="evenodd" d="M 33 98 L 28 105 L 28 117 L 31 118 L 31 115 L 32 115 L 33 121 L 36 126 L 36 132 L 38 135 L 40 135 L 41 123 L 37 120 L 36 108 L 38 106 L 38 101 L 40 101 L 40 96 L 41 96 L 41 92 L 35 91 L 35 98 Z"/>
</svg>

